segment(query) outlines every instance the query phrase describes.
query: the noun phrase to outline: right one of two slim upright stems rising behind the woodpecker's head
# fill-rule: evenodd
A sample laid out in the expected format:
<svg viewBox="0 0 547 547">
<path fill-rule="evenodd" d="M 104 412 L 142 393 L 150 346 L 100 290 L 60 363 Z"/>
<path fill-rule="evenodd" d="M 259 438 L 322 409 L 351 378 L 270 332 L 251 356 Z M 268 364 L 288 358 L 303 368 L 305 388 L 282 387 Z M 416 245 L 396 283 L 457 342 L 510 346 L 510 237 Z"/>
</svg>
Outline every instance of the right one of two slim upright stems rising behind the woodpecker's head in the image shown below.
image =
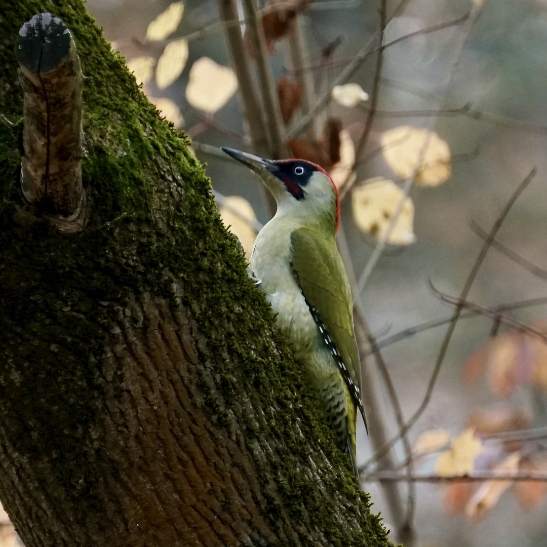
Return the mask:
<svg viewBox="0 0 547 547">
<path fill-rule="evenodd" d="M 256 0 L 243 0 L 243 6 L 249 19 L 248 31 L 253 43 L 261 95 L 264 101 L 264 113 L 270 136 L 270 157 L 274 159 L 287 158 L 287 136 L 281 117 L 276 85 L 266 51 L 264 28 L 258 13 Z"/>
</svg>

